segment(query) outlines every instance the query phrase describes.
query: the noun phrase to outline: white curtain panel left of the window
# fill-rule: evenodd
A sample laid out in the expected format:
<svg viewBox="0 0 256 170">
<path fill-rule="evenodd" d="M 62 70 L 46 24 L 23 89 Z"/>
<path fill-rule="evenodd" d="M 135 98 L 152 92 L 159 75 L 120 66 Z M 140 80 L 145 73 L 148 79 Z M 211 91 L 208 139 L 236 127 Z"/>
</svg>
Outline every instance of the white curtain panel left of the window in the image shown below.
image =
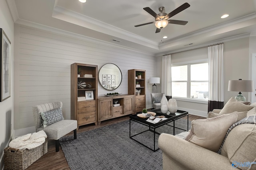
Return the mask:
<svg viewBox="0 0 256 170">
<path fill-rule="evenodd" d="M 172 96 L 172 60 L 171 55 L 163 55 L 162 58 L 162 93 Z"/>
</svg>

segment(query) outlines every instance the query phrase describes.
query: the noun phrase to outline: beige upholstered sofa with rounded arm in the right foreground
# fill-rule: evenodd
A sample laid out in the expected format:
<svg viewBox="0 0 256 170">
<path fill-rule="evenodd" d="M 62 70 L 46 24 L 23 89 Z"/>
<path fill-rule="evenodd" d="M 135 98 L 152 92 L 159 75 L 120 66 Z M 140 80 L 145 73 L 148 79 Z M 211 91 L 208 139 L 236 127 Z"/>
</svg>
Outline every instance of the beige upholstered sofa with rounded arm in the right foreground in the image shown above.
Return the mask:
<svg viewBox="0 0 256 170">
<path fill-rule="evenodd" d="M 256 115 L 255 106 L 247 112 L 249 115 Z M 160 135 L 158 145 L 164 170 L 256 170 L 256 125 L 253 123 L 234 127 L 220 154 L 166 133 Z"/>
</svg>

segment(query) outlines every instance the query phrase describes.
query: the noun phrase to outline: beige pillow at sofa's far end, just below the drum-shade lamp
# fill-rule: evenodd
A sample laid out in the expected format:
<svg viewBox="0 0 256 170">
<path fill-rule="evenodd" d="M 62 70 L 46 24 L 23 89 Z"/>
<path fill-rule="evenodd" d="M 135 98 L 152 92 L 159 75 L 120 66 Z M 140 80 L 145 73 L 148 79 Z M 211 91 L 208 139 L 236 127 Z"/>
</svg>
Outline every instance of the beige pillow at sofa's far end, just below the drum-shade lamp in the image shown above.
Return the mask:
<svg viewBox="0 0 256 170">
<path fill-rule="evenodd" d="M 225 106 L 220 111 L 220 114 L 233 113 L 234 111 L 238 111 L 238 112 L 249 111 L 252 108 L 253 108 L 253 106 L 245 105 L 241 102 L 238 102 L 234 98 L 230 98 L 230 100 L 228 100 L 228 102 L 225 104 Z"/>
</svg>

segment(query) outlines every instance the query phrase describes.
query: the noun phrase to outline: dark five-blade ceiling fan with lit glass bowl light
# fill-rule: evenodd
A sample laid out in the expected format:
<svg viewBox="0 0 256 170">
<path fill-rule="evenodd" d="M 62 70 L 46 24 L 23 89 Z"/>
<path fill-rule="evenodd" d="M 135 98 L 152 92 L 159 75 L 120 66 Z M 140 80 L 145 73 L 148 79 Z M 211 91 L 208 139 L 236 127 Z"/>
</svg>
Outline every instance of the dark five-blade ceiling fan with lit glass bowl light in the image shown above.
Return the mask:
<svg viewBox="0 0 256 170">
<path fill-rule="evenodd" d="M 142 23 L 140 25 L 135 25 L 134 27 L 140 27 L 142 25 L 148 25 L 150 23 L 155 23 L 155 25 L 157 27 L 156 28 L 156 33 L 159 33 L 161 31 L 161 29 L 166 27 L 166 25 L 168 23 L 174 23 L 174 24 L 179 24 L 179 25 L 186 25 L 188 23 L 188 21 L 168 20 L 168 19 L 171 18 L 172 16 L 178 14 L 179 12 L 182 12 L 183 10 L 185 10 L 188 7 L 190 7 L 190 4 L 188 4 L 186 2 L 186 3 L 182 4 L 181 6 L 179 6 L 178 8 L 176 8 L 175 10 L 173 10 L 172 12 L 170 12 L 169 14 L 166 14 L 164 12 L 164 7 L 160 7 L 159 8 L 159 11 L 160 11 L 159 14 L 156 14 L 149 7 L 143 8 L 146 12 L 148 12 L 150 15 L 152 15 L 155 18 L 155 21 L 148 22 L 148 23 Z"/>
</svg>

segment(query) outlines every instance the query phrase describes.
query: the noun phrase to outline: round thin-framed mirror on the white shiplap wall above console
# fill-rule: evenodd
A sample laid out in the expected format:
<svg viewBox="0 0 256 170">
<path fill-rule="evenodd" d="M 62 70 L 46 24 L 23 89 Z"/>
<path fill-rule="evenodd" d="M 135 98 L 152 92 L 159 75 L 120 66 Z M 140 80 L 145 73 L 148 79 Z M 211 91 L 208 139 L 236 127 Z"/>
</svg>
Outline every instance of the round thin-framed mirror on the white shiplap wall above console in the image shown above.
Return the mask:
<svg viewBox="0 0 256 170">
<path fill-rule="evenodd" d="M 122 82 L 122 72 L 116 64 L 107 63 L 100 68 L 98 79 L 104 89 L 114 90 Z"/>
</svg>

